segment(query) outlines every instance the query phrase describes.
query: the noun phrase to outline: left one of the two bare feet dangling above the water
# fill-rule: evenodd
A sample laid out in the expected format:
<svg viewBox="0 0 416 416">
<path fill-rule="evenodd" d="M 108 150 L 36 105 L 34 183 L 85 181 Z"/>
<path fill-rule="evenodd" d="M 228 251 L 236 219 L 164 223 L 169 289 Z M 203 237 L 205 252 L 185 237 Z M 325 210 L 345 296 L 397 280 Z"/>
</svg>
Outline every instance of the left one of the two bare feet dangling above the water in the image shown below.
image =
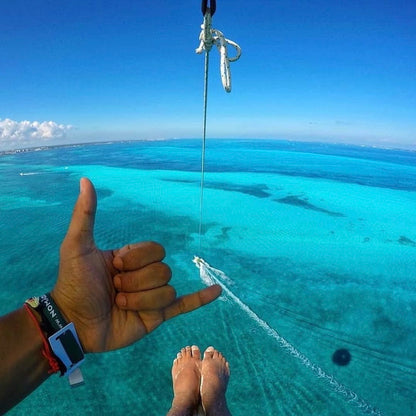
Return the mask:
<svg viewBox="0 0 416 416">
<path fill-rule="evenodd" d="M 199 404 L 201 353 L 196 345 L 178 352 L 172 366 L 173 401 L 168 416 L 193 415 Z"/>
</svg>

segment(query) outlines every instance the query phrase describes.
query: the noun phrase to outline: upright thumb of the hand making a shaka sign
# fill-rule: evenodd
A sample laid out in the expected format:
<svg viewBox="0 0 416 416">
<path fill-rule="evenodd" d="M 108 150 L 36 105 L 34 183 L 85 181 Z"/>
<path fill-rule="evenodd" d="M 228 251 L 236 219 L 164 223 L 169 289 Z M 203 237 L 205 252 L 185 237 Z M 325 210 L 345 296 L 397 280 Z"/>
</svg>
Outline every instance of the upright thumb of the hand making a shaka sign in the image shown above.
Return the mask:
<svg viewBox="0 0 416 416">
<path fill-rule="evenodd" d="M 87 178 L 80 180 L 80 193 L 72 213 L 71 222 L 65 237 L 70 245 L 94 244 L 94 221 L 97 209 L 97 195 L 94 185 Z M 71 244 L 72 243 L 72 244 Z M 75 248 L 75 247 L 74 247 Z M 80 247 L 79 247 L 80 248 Z"/>
</svg>

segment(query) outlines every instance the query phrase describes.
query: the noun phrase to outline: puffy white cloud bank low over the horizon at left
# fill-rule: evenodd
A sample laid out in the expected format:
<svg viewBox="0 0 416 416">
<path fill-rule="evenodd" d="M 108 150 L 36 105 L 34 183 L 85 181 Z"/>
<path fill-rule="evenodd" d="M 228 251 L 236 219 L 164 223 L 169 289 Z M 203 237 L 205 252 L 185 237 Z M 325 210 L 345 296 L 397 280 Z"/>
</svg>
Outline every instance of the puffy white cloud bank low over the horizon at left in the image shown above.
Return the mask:
<svg viewBox="0 0 416 416">
<path fill-rule="evenodd" d="M 54 121 L 0 119 L 0 149 L 45 145 L 45 142 L 64 139 L 71 128 Z"/>
</svg>

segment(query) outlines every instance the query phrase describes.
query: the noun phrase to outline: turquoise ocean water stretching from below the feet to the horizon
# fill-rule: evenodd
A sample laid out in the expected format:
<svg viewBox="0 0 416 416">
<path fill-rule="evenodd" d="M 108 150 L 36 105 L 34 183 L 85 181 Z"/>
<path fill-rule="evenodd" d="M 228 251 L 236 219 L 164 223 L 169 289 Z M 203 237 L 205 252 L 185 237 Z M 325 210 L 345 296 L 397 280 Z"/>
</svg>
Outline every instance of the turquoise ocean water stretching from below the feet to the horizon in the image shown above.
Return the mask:
<svg viewBox="0 0 416 416">
<path fill-rule="evenodd" d="M 101 248 L 155 240 L 179 295 L 224 295 L 88 355 L 10 415 L 164 415 L 177 351 L 227 357 L 234 416 L 416 414 L 416 152 L 271 140 L 113 142 L 0 156 L 0 313 L 52 288 L 81 177 Z M 202 221 L 201 221 L 202 219 Z M 201 232 L 200 232 L 201 230 Z M 333 362 L 347 349 L 348 365 Z"/>
</svg>

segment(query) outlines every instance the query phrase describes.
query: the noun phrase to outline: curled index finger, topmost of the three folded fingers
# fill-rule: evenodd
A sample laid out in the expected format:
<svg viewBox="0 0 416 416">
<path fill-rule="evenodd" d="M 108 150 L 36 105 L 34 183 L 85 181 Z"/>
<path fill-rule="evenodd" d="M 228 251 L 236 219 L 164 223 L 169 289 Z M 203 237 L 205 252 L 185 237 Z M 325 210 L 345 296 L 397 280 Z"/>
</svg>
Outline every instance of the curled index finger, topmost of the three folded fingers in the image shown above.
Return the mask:
<svg viewBox="0 0 416 416">
<path fill-rule="evenodd" d="M 165 249 L 154 241 L 128 244 L 113 251 L 113 266 L 120 271 L 141 269 L 165 258 Z"/>
</svg>

